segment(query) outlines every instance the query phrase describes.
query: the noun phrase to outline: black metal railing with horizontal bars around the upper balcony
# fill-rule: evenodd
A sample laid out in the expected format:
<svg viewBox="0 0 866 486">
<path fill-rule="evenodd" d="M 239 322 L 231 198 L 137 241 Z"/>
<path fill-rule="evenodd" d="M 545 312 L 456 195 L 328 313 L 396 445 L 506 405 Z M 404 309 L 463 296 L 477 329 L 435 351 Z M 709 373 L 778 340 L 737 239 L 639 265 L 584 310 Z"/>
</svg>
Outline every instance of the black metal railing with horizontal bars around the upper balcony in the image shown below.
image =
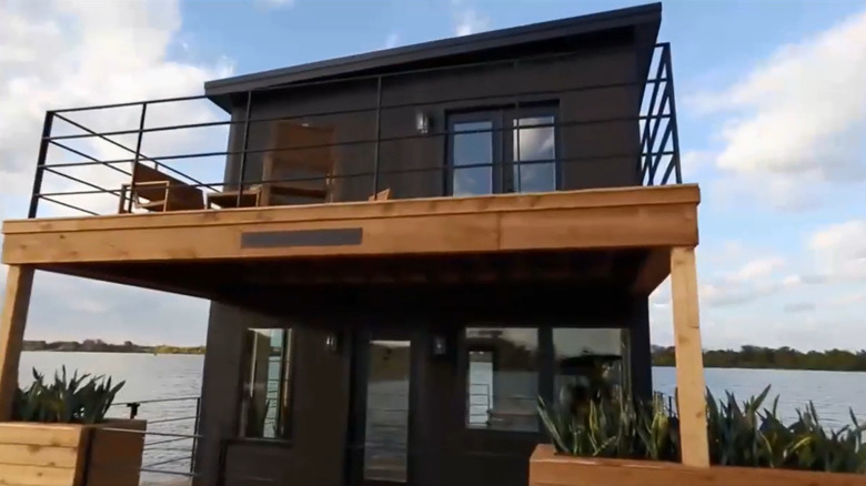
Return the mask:
<svg viewBox="0 0 866 486">
<path fill-rule="evenodd" d="M 632 51 L 634 52 L 634 51 Z M 497 60 L 473 64 L 462 64 L 442 68 L 431 68 L 425 70 L 415 70 L 407 72 L 354 77 L 340 80 L 314 81 L 293 84 L 291 87 L 280 87 L 271 89 L 260 89 L 239 93 L 245 97 L 243 99 L 242 113 L 239 110 L 234 117 L 228 120 L 219 120 L 220 114 L 205 97 L 183 97 L 163 100 L 151 100 L 130 103 L 114 103 L 98 107 L 73 108 L 49 111 L 46 114 L 42 136 L 40 142 L 39 156 L 37 160 L 36 176 L 30 201 L 29 217 L 37 217 L 40 201 L 48 201 L 59 206 L 63 206 L 75 212 L 85 214 L 107 213 L 108 205 L 90 200 L 95 196 L 107 196 L 112 204 L 110 207 L 123 207 L 129 202 L 129 210 L 132 210 L 131 200 L 127 201 L 127 192 L 134 192 L 140 186 L 135 183 L 130 184 L 134 168 L 138 164 L 147 164 L 170 175 L 179 181 L 183 186 L 198 188 L 211 193 L 220 191 L 233 191 L 236 193 L 236 205 L 242 205 L 244 192 L 249 193 L 252 186 L 270 183 L 301 183 L 301 182 L 343 182 L 362 180 L 370 183 L 371 188 L 367 195 L 374 195 L 380 190 L 385 189 L 383 180 L 387 176 L 400 176 L 405 174 L 426 173 L 431 176 L 442 178 L 442 194 L 449 194 L 447 182 L 444 174 L 454 168 L 444 159 L 435 164 L 425 166 L 409 166 L 411 164 L 394 164 L 386 160 L 383 154 L 383 145 L 392 142 L 416 142 L 431 136 L 439 136 L 447 140 L 449 136 L 460 133 L 461 135 L 471 133 L 491 133 L 492 138 L 501 139 L 502 150 L 505 148 L 505 140 L 513 136 L 516 130 L 520 133 L 523 130 L 552 129 L 556 133 L 563 130 L 575 130 L 581 126 L 612 126 L 615 124 L 634 123 L 634 134 L 636 140 L 633 144 L 630 142 L 616 150 L 606 149 L 606 151 L 594 150 L 588 146 L 585 153 L 562 154 L 556 150 L 553 158 L 541 160 L 520 160 L 520 143 L 522 136 L 513 138 L 516 141 L 516 159 L 508 162 L 520 174 L 523 166 L 535 164 L 554 164 L 557 171 L 561 168 L 571 168 L 582 163 L 605 163 L 611 160 L 630 160 L 634 165 L 630 165 L 630 174 L 625 180 L 631 180 L 632 185 L 659 185 L 669 183 L 682 183 L 682 171 L 679 161 L 679 140 L 676 125 L 676 107 L 674 95 L 673 69 L 671 60 L 671 47 L 668 43 L 657 44 L 654 49 L 652 64 L 650 67 L 650 79 L 636 81 L 607 82 L 598 84 L 580 84 L 557 87 L 547 90 L 524 90 L 516 89 L 513 92 L 503 92 L 501 89 L 491 90 L 487 94 L 474 97 L 446 98 L 440 97 L 435 100 L 421 100 L 412 102 L 394 102 L 383 98 L 387 93 L 387 88 L 383 87 L 385 82 L 391 82 L 400 77 L 415 75 L 419 73 L 434 71 L 456 71 L 461 69 L 473 69 L 483 65 L 510 67 L 515 73 L 523 72 L 535 62 L 546 61 L 552 58 L 575 55 L 574 52 L 536 55 L 532 58 Z M 362 107 L 351 107 L 342 110 L 315 111 L 305 113 L 294 113 L 292 115 L 280 117 L 253 117 L 256 102 L 266 103 L 265 97 L 273 94 L 274 90 L 303 90 L 312 88 L 339 89 L 345 83 L 370 83 L 371 103 Z M 518 83 L 517 83 L 518 84 Z M 533 107 L 540 100 L 550 100 L 564 94 L 592 93 L 593 91 L 610 90 L 612 88 L 635 88 L 633 92 L 642 94 L 637 115 L 616 115 L 601 117 L 595 119 L 573 119 L 573 113 L 561 113 L 552 123 L 538 123 L 532 125 L 495 126 L 476 131 L 451 130 L 450 126 L 437 126 L 434 131 L 416 131 L 411 134 L 389 134 L 383 131 L 383 113 L 393 110 L 423 109 L 430 107 L 454 105 L 455 103 L 466 104 L 469 102 L 479 105 L 490 105 L 501 103 L 507 100 L 510 109 L 520 112 L 522 108 Z M 496 92 L 493 92 L 496 91 Z M 392 97 L 393 98 L 393 97 Z M 259 100 L 259 101 L 256 101 Z M 198 108 L 188 110 L 185 103 L 197 104 Z M 486 103 L 486 104 L 485 104 Z M 123 114 L 115 115 L 114 111 L 120 110 Z M 168 114 L 155 115 L 158 119 L 167 118 L 174 122 L 178 118 L 195 113 L 193 122 L 187 123 L 154 123 L 153 112 L 165 111 Z M 617 110 L 614 110 L 616 112 Z M 622 112 L 635 111 L 634 108 L 618 110 Z M 107 114 L 107 112 L 110 112 Z M 220 112 L 221 113 L 221 112 Z M 370 138 L 359 140 L 341 140 L 328 144 L 311 144 L 304 146 L 255 146 L 251 143 L 251 126 L 262 123 L 273 123 L 278 121 L 304 122 L 314 118 L 353 115 L 366 113 L 370 117 L 371 132 Z M 564 115 L 563 115 L 564 114 Z M 88 122 L 80 118 L 88 119 Z M 225 114 L 222 114 L 225 118 Z M 73 118 L 79 118 L 74 120 Z M 112 130 L 95 130 L 94 124 L 105 124 L 105 122 L 118 123 L 121 119 L 128 119 L 129 128 Z M 518 119 L 520 120 L 520 119 Z M 159 122 L 159 120 L 157 120 Z M 216 136 L 204 136 L 203 141 L 194 143 L 198 150 L 178 151 L 174 153 L 155 154 L 152 153 L 154 146 L 164 146 L 167 143 L 157 143 L 149 145 L 150 138 L 163 136 L 171 139 L 177 144 L 191 143 L 185 140 L 190 131 L 195 130 L 220 130 Z M 617 129 L 618 130 L 618 129 Z M 632 130 L 632 129 L 628 129 Z M 226 136 L 226 131 L 232 131 L 231 136 Z M 60 132 L 60 133 L 59 133 Z M 179 134 L 180 133 L 180 134 Z M 571 132 L 570 132 L 571 133 Z M 630 135 L 631 136 L 631 135 Z M 173 138 L 173 139 L 172 139 Z M 234 140 L 238 139 L 238 140 Z M 202 150 L 209 143 L 218 142 L 225 145 L 226 141 L 232 140 L 230 146 L 223 150 Z M 180 142 L 179 142 L 180 141 Z M 419 142 L 421 143 L 421 142 Z M 97 146 L 99 145 L 99 146 Z M 371 146 L 372 154 L 365 155 L 360 170 L 351 170 L 351 164 L 343 164 L 344 168 L 339 172 L 326 175 L 316 174 L 314 176 L 281 176 L 263 178 L 255 173 L 251 165 L 253 159 L 262 158 L 266 153 L 279 153 L 285 151 L 300 151 L 322 148 L 351 149 L 353 146 Z M 53 149 L 58 149 L 54 151 Z M 570 152 L 575 152 L 571 150 Z M 60 161 L 52 160 L 50 155 L 59 155 Z M 207 159 L 218 158 L 219 161 L 207 161 Z M 194 162 L 192 165 L 188 162 Z M 210 163 L 200 163 L 210 162 Z M 391 162 L 389 168 L 383 166 L 383 162 Z M 226 165 L 228 164 L 228 165 Z M 183 165 L 183 166 L 182 166 Z M 228 168 L 228 169 L 226 169 Z M 480 162 L 473 164 L 461 164 L 460 169 L 490 168 L 500 170 L 502 166 L 497 162 Z M 211 178 L 202 176 L 201 173 L 211 172 L 216 175 Z M 253 174 L 251 174 L 253 172 Z M 195 175 L 191 175 L 194 173 Z M 47 175 L 51 176 L 52 182 L 47 184 Z M 363 178 L 363 179 L 362 179 Z M 517 175 L 520 179 L 520 175 Z M 560 176 L 557 175 L 557 179 Z M 57 182 L 60 181 L 58 184 Z M 205 182 L 203 182 L 205 181 Z M 122 182 L 122 183 L 121 183 Z M 622 185 L 622 184 L 617 184 Z M 172 182 L 169 188 L 175 188 Z M 556 185 L 552 189 L 570 189 Z M 501 191 L 503 189 L 500 189 Z M 520 188 L 507 188 L 504 191 L 520 191 Z M 121 200 L 121 204 L 113 201 Z M 366 199 L 366 198 L 364 198 Z M 71 200 L 78 200 L 79 203 Z M 80 202 L 83 201 L 83 202 Z M 104 202 L 104 200 L 101 200 Z M 125 201 L 125 202 L 124 202 Z M 329 202 L 329 201 L 319 201 Z M 207 206 L 202 205 L 202 209 Z M 128 211 L 121 211 L 128 212 Z"/>
</svg>

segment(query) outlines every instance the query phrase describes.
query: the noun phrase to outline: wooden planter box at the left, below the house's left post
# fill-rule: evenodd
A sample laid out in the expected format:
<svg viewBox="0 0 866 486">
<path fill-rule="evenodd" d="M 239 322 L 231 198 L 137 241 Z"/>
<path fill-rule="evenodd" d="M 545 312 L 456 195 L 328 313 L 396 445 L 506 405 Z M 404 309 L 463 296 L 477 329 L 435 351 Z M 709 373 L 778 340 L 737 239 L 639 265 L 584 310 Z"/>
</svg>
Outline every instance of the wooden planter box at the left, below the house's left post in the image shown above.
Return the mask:
<svg viewBox="0 0 866 486">
<path fill-rule="evenodd" d="M 0 485 L 138 486 L 145 428 L 127 419 L 0 423 Z"/>
</svg>

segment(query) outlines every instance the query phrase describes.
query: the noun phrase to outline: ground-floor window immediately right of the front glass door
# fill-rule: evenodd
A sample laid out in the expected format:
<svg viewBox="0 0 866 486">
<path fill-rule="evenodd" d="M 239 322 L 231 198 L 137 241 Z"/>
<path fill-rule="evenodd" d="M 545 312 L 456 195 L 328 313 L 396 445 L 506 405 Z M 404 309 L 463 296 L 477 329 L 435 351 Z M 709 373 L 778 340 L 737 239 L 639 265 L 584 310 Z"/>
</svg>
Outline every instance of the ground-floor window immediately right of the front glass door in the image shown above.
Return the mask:
<svg viewBox="0 0 866 486">
<path fill-rule="evenodd" d="M 536 432 L 538 330 L 466 330 L 466 426 Z"/>
</svg>

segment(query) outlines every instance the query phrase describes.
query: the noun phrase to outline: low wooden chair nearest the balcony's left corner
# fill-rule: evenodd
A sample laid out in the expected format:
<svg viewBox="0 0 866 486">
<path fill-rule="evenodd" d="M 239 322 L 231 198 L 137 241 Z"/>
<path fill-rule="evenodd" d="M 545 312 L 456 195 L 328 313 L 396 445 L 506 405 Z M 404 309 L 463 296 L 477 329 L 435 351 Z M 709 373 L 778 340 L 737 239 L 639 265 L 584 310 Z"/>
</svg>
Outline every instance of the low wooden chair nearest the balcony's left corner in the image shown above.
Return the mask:
<svg viewBox="0 0 866 486">
<path fill-rule="evenodd" d="M 119 213 L 129 213 L 132 205 L 147 211 L 187 211 L 204 209 L 204 193 L 159 169 L 134 162 L 129 184 L 121 184 Z"/>
</svg>

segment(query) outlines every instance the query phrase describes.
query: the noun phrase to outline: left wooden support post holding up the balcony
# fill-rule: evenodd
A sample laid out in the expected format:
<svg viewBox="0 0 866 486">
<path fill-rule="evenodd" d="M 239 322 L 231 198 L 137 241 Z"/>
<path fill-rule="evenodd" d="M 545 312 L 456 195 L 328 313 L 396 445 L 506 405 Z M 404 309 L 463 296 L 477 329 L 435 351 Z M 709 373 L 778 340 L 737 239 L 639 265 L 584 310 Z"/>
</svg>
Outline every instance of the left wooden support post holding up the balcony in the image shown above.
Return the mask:
<svg viewBox="0 0 866 486">
<path fill-rule="evenodd" d="M 0 312 L 0 422 L 12 418 L 12 399 L 18 388 L 18 363 L 24 342 L 33 267 L 10 265 L 6 280 L 6 298 Z"/>
</svg>

